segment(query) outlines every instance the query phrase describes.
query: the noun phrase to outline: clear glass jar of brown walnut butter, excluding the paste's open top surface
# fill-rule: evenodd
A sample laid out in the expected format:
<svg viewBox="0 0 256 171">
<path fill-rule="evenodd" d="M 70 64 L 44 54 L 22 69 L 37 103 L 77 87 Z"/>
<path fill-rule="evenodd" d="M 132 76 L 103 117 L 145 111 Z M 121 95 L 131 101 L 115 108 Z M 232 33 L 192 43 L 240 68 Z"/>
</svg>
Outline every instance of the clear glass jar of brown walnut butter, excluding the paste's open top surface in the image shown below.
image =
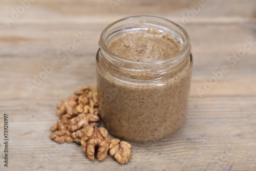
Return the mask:
<svg viewBox="0 0 256 171">
<path fill-rule="evenodd" d="M 167 59 L 141 62 L 108 49 L 125 32 L 154 29 L 176 39 L 182 50 Z M 99 114 L 106 129 L 130 141 L 147 142 L 177 131 L 186 117 L 193 60 L 186 31 L 153 16 L 120 19 L 100 36 L 96 56 Z"/>
</svg>

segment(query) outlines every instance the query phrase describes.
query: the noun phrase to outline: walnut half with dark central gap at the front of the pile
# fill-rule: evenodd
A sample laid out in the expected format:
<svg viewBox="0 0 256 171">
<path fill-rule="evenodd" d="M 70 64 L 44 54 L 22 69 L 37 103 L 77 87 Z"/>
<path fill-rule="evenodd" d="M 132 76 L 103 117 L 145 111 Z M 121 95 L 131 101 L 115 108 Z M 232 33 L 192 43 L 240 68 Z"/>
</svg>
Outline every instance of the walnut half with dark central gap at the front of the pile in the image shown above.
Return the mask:
<svg viewBox="0 0 256 171">
<path fill-rule="evenodd" d="M 87 154 L 89 160 L 94 160 L 95 146 L 98 146 L 98 160 L 106 159 L 108 157 L 109 143 L 108 131 L 103 127 L 93 128 L 91 125 L 88 125 L 84 129 L 81 145 L 83 152 Z"/>
</svg>

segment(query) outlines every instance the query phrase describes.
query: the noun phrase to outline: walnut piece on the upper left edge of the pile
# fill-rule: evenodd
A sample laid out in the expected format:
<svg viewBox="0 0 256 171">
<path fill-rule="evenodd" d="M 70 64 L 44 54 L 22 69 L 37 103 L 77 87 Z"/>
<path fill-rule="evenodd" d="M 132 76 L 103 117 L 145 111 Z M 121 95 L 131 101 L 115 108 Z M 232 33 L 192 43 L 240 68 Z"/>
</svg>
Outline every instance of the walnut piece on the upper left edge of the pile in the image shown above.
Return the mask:
<svg viewBox="0 0 256 171">
<path fill-rule="evenodd" d="M 58 103 L 57 105 L 57 111 L 56 115 L 61 116 L 63 114 L 68 114 L 68 115 L 76 115 L 77 110 L 76 107 L 78 105 L 78 98 L 71 96 L 65 100 L 61 100 L 61 102 Z"/>
</svg>

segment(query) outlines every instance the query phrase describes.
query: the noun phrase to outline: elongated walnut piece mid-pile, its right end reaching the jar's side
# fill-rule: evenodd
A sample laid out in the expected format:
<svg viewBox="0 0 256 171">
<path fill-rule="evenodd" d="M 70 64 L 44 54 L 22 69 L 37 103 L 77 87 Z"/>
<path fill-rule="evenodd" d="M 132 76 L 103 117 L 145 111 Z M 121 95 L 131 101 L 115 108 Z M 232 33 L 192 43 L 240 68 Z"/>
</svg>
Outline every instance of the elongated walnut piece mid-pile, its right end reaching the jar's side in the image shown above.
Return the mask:
<svg viewBox="0 0 256 171">
<path fill-rule="evenodd" d="M 100 118 L 98 115 L 94 114 L 79 114 L 70 120 L 69 131 L 74 132 L 82 127 L 86 127 L 91 122 L 97 122 Z"/>
</svg>

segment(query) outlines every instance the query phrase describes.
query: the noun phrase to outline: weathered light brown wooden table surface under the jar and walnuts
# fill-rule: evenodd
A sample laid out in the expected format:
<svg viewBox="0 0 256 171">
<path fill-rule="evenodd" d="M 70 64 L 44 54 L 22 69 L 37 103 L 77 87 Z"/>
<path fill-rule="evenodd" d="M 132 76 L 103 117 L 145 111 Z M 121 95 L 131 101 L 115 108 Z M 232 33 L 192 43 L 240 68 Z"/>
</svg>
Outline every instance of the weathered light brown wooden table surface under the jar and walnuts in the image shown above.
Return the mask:
<svg viewBox="0 0 256 171">
<path fill-rule="evenodd" d="M 8 114 L 10 170 L 256 170 L 255 0 L 30 1 L 0 2 L 0 130 L 2 142 Z M 89 161 L 76 143 L 49 139 L 56 105 L 84 84 L 95 84 L 101 31 L 140 14 L 173 20 L 190 36 L 194 70 L 188 116 L 170 137 L 132 143 L 128 164 L 112 156 Z M 73 51 L 80 34 L 81 45 Z M 63 55 L 66 48 L 73 52 Z M 233 53 L 241 57 L 230 57 Z M 41 74 L 53 61 L 53 71 Z M 44 80 L 31 87 L 39 76 Z M 0 170 L 7 170 L 3 143 L 0 148 Z"/>
</svg>

